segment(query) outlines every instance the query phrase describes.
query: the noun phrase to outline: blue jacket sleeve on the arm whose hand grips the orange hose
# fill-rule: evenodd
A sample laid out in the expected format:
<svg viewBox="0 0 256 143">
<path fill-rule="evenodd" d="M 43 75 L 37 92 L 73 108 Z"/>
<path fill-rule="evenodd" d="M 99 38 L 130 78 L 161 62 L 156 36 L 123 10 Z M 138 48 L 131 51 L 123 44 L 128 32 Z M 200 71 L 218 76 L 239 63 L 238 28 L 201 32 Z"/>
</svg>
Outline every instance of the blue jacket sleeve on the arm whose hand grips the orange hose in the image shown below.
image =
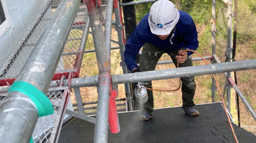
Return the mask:
<svg viewBox="0 0 256 143">
<path fill-rule="evenodd" d="M 197 50 L 199 42 L 198 42 L 198 35 L 197 35 L 197 28 L 192 20 L 191 25 L 188 27 L 186 33 L 184 34 L 185 39 L 185 49 Z M 188 51 L 187 54 L 193 54 L 194 52 Z"/>
</svg>

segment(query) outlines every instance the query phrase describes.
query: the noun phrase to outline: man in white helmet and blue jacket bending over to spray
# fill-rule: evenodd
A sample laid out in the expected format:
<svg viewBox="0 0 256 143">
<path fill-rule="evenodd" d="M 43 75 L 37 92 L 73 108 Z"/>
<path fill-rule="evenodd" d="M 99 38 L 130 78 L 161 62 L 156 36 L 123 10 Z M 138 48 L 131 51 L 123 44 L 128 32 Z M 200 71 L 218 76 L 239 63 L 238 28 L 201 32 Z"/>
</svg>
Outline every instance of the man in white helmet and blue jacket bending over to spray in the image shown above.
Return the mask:
<svg viewBox="0 0 256 143">
<path fill-rule="evenodd" d="M 136 54 L 140 51 L 140 71 L 155 70 L 158 60 L 163 53 L 167 53 L 177 67 L 193 66 L 191 51 L 198 47 L 198 35 L 194 20 L 189 14 L 178 10 L 167 0 L 155 2 L 136 26 L 134 32 L 127 40 L 124 51 L 124 61 L 132 72 L 139 72 L 135 62 Z M 180 55 L 181 54 L 181 55 Z M 196 83 L 194 77 L 182 77 L 182 108 L 188 116 L 197 116 L 199 111 L 193 106 Z M 146 87 L 152 88 L 152 81 L 147 81 Z M 141 109 L 139 120 L 152 118 L 154 108 L 153 91 L 147 90 L 148 100 Z"/>
</svg>

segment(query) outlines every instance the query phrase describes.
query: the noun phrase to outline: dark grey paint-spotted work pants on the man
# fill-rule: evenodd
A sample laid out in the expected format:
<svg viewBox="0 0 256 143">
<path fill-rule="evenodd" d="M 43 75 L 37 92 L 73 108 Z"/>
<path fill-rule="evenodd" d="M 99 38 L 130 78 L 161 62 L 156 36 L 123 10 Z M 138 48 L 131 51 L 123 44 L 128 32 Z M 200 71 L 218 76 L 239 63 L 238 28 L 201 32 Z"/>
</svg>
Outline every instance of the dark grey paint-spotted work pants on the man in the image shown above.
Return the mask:
<svg viewBox="0 0 256 143">
<path fill-rule="evenodd" d="M 181 49 L 179 49 L 181 50 Z M 172 51 L 167 53 L 170 58 L 172 58 L 175 66 L 177 67 L 177 60 L 175 59 L 175 56 L 178 55 L 179 50 Z M 152 44 L 146 43 L 143 46 L 142 53 L 140 55 L 140 71 L 152 71 L 155 70 L 158 60 L 161 58 L 162 54 L 165 53 L 158 47 Z M 183 64 L 179 64 L 179 67 L 189 67 L 193 66 L 192 60 L 189 56 L 187 60 Z M 194 96 L 196 91 L 196 83 L 195 78 L 192 77 L 182 77 L 182 108 L 186 110 L 189 106 L 195 105 L 194 103 Z M 152 88 L 152 81 L 146 81 L 148 82 L 148 85 L 146 87 Z M 149 113 L 153 112 L 154 109 L 154 97 L 153 97 L 153 91 L 147 90 L 148 95 L 148 101 L 144 104 L 143 108 L 141 110 L 147 111 Z"/>
</svg>

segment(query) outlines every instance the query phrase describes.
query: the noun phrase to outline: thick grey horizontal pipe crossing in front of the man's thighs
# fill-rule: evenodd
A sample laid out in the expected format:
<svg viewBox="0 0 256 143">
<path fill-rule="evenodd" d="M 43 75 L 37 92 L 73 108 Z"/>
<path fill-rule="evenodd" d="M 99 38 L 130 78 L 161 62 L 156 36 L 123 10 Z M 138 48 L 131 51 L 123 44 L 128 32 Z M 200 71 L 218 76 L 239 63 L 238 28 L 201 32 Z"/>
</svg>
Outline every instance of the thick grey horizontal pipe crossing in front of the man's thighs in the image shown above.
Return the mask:
<svg viewBox="0 0 256 143">
<path fill-rule="evenodd" d="M 143 82 L 151 80 L 187 77 L 187 76 L 197 76 L 206 74 L 215 74 L 231 71 L 241 71 L 256 69 L 256 59 L 238 62 L 229 62 L 221 64 L 211 64 L 203 66 L 194 67 L 184 67 L 176 69 L 166 69 L 158 71 L 146 71 L 131 74 L 118 74 L 112 75 L 112 83 L 133 83 L 133 82 Z"/>
</svg>

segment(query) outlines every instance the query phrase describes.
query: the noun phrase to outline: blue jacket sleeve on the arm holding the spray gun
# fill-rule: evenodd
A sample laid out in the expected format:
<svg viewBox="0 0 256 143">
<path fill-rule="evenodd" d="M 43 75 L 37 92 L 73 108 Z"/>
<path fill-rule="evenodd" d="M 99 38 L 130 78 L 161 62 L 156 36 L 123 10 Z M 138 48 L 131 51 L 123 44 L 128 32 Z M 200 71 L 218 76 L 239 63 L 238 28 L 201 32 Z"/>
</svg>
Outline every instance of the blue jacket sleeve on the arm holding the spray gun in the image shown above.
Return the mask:
<svg viewBox="0 0 256 143">
<path fill-rule="evenodd" d="M 138 26 L 135 28 L 125 45 L 124 62 L 130 71 L 138 68 L 137 63 L 135 62 L 136 55 L 140 48 L 145 44 L 145 41 L 139 34 L 138 28 Z"/>
</svg>

